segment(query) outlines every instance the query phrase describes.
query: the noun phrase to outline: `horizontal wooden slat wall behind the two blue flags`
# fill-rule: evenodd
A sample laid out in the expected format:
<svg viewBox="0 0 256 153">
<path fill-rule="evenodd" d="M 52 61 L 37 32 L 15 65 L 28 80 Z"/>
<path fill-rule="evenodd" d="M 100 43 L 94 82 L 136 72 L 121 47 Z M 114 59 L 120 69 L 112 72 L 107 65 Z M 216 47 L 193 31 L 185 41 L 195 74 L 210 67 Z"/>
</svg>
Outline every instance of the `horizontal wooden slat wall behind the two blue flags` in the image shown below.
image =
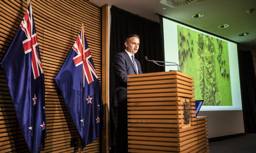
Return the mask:
<svg viewBox="0 0 256 153">
<path fill-rule="evenodd" d="M 101 8 L 86 0 L 32 0 L 35 27 L 45 75 L 47 138 L 42 152 L 78 152 L 79 138 L 54 78 L 75 42 L 83 18 L 85 34 L 101 81 Z M 0 2 L 0 60 L 10 46 L 26 11 L 25 0 Z M 0 152 L 28 152 L 10 93 L 0 68 Z M 99 139 L 82 152 L 99 152 Z"/>
</svg>

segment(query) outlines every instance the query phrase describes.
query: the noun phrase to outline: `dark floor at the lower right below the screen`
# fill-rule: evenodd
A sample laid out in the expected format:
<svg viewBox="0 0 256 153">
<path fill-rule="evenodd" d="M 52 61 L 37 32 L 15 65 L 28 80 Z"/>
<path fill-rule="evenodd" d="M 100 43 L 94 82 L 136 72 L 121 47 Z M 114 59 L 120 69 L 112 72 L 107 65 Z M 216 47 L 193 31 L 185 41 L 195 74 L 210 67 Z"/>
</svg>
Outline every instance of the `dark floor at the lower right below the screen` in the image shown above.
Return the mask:
<svg viewBox="0 0 256 153">
<path fill-rule="evenodd" d="M 209 141 L 210 153 L 256 153 L 256 134 Z"/>
</svg>

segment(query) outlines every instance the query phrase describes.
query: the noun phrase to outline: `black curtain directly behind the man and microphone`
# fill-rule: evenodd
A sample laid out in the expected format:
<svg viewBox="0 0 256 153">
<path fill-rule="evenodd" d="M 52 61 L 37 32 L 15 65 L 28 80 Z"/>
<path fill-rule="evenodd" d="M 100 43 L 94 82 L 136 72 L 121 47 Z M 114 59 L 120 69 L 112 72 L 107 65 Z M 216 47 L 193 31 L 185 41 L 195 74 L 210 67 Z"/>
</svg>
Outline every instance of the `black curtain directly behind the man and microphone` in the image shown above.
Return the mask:
<svg viewBox="0 0 256 153">
<path fill-rule="evenodd" d="M 135 54 L 135 58 L 140 61 L 143 73 L 161 72 L 165 71 L 165 69 L 146 61 L 144 58 L 144 56 L 147 56 L 148 59 L 161 61 L 164 59 L 160 24 L 115 6 L 110 8 L 110 12 L 109 100 L 111 103 L 115 84 L 113 59 L 118 52 L 125 50 L 124 42 L 129 34 L 140 36 L 140 47 L 139 51 Z"/>
</svg>

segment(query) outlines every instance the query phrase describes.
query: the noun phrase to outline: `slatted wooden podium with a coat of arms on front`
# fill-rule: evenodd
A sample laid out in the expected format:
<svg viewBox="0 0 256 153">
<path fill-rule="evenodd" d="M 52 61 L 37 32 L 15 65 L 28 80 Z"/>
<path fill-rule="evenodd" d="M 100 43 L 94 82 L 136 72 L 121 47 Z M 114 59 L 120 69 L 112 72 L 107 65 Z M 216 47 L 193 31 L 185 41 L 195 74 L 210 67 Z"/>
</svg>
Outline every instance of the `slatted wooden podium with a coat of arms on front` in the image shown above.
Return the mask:
<svg viewBox="0 0 256 153">
<path fill-rule="evenodd" d="M 209 152 L 207 118 L 193 114 L 192 76 L 170 71 L 127 77 L 128 152 Z"/>
</svg>

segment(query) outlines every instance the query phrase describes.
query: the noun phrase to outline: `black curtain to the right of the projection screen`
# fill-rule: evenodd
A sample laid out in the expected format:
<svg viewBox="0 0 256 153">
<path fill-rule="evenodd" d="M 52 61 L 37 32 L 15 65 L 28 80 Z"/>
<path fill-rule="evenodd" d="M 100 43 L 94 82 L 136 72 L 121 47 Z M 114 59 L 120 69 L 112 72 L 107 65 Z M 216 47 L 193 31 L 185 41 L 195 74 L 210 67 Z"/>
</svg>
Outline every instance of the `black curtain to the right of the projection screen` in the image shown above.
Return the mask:
<svg viewBox="0 0 256 153">
<path fill-rule="evenodd" d="M 238 51 L 245 133 L 256 133 L 256 81 L 252 53 Z"/>
</svg>

